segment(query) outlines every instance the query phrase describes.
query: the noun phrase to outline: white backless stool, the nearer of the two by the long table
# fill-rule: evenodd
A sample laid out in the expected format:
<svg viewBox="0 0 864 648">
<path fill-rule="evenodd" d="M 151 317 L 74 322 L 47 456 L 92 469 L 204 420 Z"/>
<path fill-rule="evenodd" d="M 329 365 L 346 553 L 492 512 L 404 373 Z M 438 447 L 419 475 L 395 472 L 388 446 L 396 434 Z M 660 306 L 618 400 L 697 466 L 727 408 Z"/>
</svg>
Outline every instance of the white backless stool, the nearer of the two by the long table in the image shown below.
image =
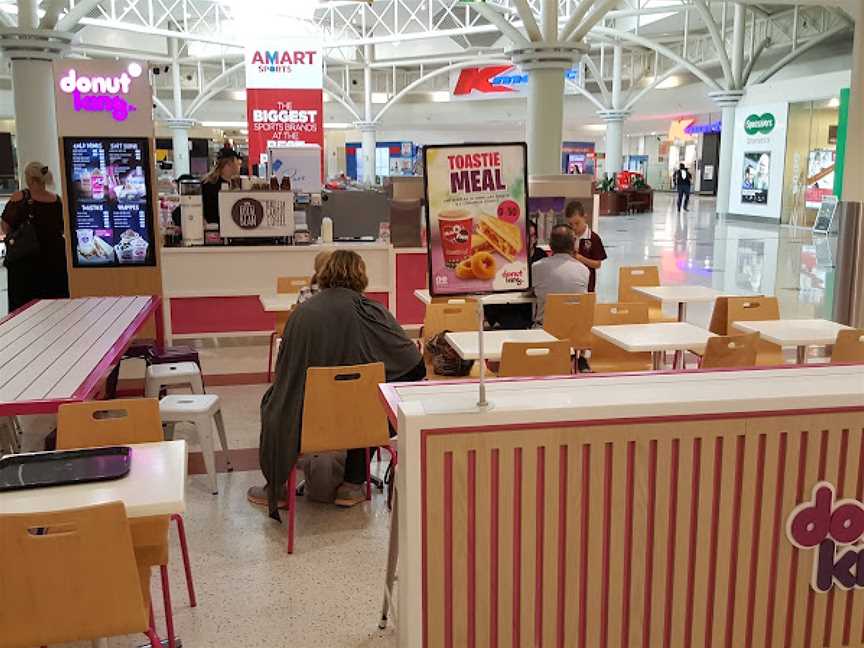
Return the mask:
<svg viewBox="0 0 864 648">
<path fill-rule="evenodd" d="M 213 453 L 214 425 L 215 431 L 219 432 L 222 450 L 225 451 L 228 471 L 234 470 L 228 454 L 228 440 L 225 438 L 225 422 L 222 420 L 219 397 L 216 394 L 169 394 L 159 401 L 159 415 L 162 417 L 162 422 L 166 424 L 165 437 L 169 441 L 174 438 L 175 423 L 192 423 L 195 426 L 201 454 L 204 455 L 204 466 L 207 469 L 210 489 L 214 495 L 218 493 L 216 457 Z"/>
</svg>

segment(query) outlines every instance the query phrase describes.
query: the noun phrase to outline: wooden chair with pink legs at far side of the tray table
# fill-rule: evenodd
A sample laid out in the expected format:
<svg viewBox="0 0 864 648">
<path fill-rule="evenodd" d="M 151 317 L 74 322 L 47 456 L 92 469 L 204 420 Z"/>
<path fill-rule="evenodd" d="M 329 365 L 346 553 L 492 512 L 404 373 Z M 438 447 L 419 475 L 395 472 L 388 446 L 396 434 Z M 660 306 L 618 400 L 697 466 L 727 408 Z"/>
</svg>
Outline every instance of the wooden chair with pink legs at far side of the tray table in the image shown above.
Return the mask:
<svg viewBox="0 0 864 648">
<path fill-rule="evenodd" d="M 159 401 L 155 398 L 129 398 L 113 401 L 67 403 L 57 412 L 57 449 L 92 448 L 106 445 L 135 445 L 163 441 Z M 135 558 L 140 567 L 159 567 L 162 601 L 168 640 L 174 643 L 174 613 L 168 580 L 168 526 L 174 520 L 180 539 L 189 605 L 195 607 L 195 584 L 189 563 L 186 528 L 180 515 L 156 515 L 130 521 Z M 149 589 L 148 589 L 149 591 Z"/>
</svg>

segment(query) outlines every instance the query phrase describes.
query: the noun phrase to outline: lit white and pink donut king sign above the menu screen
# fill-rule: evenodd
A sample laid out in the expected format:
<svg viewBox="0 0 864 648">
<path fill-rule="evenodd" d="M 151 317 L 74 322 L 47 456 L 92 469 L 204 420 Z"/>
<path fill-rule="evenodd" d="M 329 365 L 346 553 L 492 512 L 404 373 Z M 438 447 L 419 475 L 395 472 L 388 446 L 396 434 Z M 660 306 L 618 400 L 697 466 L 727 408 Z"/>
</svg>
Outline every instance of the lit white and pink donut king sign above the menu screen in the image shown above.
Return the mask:
<svg viewBox="0 0 864 648">
<path fill-rule="evenodd" d="M 132 80 L 140 77 L 143 71 L 138 63 L 130 63 L 119 76 L 86 76 L 70 68 L 57 85 L 61 92 L 72 95 L 75 112 L 107 112 L 114 121 L 122 122 L 126 121 L 129 113 L 138 110 L 126 95 Z"/>
</svg>

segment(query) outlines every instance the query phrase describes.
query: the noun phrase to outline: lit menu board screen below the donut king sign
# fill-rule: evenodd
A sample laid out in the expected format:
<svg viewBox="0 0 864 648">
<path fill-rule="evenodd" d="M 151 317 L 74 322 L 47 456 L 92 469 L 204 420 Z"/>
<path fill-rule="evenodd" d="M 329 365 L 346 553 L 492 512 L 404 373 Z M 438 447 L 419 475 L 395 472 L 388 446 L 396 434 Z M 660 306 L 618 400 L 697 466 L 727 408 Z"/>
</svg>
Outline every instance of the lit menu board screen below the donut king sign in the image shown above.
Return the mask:
<svg viewBox="0 0 864 648">
<path fill-rule="evenodd" d="M 76 267 L 155 265 L 147 139 L 63 139 Z"/>
</svg>

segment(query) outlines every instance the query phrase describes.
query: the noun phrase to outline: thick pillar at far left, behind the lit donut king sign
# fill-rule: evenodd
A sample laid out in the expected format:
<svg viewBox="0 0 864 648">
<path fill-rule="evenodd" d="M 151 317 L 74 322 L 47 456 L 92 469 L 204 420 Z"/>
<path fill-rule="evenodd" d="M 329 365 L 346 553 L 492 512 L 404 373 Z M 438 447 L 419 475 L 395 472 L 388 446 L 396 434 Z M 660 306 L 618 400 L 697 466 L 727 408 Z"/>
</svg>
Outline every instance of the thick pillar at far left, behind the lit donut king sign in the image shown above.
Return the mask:
<svg viewBox="0 0 864 648">
<path fill-rule="evenodd" d="M 18 177 L 24 167 L 38 161 L 58 179 L 54 189 L 62 192 L 57 114 L 54 107 L 54 71 L 51 62 L 69 47 L 72 34 L 38 29 L 0 31 L 0 49 L 12 62 L 15 102 L 15 145 Z"/>
</svg>

